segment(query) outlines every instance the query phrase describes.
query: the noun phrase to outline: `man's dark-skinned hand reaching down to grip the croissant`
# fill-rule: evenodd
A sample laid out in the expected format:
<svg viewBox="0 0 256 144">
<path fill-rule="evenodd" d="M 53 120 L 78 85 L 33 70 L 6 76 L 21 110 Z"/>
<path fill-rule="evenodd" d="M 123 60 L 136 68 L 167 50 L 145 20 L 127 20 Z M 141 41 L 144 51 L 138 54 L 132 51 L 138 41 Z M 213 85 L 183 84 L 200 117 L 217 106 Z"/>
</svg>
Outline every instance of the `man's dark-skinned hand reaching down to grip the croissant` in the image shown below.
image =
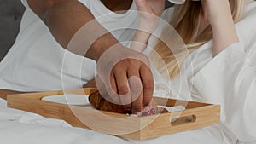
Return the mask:
<svg viewBox="0 0 256 144">
<path fill-rule="evenodd" d="M 116 44 L 97 63 L 96 85 L 108 101 L 124 105 L 127 112 L 142 112 L 154 92 L 149 67 L 146 55 Z"/>
</svg>

